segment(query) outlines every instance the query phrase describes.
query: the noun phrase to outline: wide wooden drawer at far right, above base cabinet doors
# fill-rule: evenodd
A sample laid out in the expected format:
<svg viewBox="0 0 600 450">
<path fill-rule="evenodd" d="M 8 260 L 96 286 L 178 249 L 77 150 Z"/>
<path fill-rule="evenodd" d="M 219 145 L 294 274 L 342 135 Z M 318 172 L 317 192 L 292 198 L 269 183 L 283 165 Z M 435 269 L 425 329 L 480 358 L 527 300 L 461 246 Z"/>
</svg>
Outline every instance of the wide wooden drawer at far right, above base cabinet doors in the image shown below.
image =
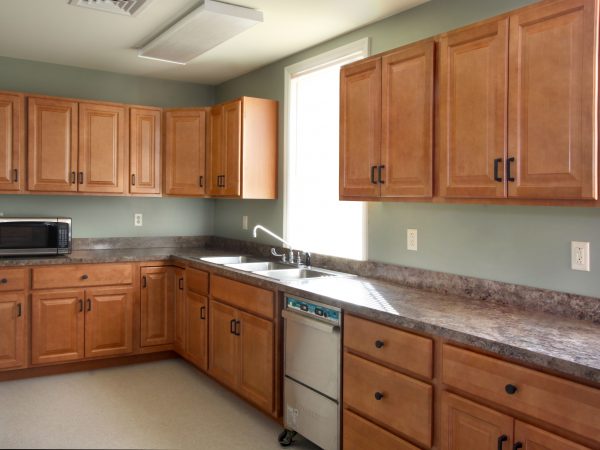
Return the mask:
<svg viewBox="0 0 600 450">
<path fill-rule="evenodd" d="M 447 385 L 600 442 L 600 389 L 447 344 L 442 359 Z"/>
</svg>

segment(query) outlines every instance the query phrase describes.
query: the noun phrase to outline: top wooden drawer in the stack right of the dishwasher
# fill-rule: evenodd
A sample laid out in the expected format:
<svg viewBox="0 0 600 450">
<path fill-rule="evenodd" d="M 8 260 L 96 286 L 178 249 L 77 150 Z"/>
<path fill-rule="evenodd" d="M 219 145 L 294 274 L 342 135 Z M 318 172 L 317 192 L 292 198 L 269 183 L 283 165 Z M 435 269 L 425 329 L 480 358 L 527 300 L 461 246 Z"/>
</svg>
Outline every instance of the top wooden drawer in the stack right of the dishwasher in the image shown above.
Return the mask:
<svg viewBox="0 0 600 450">
<path fill-rule="evenodd" d="M 432 378 L 431 339 L 350 315 L 344 321 L 344 345 L 349 350 Z"/>
</svg>

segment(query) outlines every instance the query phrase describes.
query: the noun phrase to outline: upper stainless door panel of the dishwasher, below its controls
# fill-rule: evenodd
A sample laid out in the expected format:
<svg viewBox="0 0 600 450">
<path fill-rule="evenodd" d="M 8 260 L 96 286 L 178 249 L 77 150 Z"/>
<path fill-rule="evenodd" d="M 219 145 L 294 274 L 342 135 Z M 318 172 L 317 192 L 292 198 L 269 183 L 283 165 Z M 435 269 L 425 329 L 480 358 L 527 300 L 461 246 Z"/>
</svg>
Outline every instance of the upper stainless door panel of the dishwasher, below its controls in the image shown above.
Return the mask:
<svg viewBox="0 0 600 450">
<path fill-rule="evenodd" d="M 283 310 L 285 376 L 339 400 L 340 327 Z"/>
</svg>

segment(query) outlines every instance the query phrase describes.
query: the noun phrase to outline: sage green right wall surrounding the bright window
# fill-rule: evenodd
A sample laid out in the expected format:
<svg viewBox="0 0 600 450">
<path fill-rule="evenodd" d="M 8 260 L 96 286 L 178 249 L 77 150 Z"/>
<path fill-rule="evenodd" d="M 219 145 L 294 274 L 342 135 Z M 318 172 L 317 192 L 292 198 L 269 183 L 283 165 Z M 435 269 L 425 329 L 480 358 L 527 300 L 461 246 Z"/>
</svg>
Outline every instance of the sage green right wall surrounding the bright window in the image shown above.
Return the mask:
<svg viewBox="0 0 600 450">
<path fill-rule="evenodd" d="M 431 0 L 217 87 L 217 101 L 239 95 L 280 101 L 283 167 L 284 68 L 340 45 L 370 37 L 379 53 L 533 3 L 532 0 Z M 279 194 L 283 196 L 280 176 Z M 250 225 L 283 229 L 283 200 L 215 205 L 215 233 L 251 239 Z M 556 207 L 370 203 L 369 259 L 530 286 L 600 296 L 600 210 Z M 318 217 L 307 220 L 319 220 Z M 419 230 L 419 251 L 406 250 L 406 229 Z M 272 243 L 262 235 L 263 242 Z M 570 241 L 591 242 L 592 272 L 570 270 Z"/>
</svg>

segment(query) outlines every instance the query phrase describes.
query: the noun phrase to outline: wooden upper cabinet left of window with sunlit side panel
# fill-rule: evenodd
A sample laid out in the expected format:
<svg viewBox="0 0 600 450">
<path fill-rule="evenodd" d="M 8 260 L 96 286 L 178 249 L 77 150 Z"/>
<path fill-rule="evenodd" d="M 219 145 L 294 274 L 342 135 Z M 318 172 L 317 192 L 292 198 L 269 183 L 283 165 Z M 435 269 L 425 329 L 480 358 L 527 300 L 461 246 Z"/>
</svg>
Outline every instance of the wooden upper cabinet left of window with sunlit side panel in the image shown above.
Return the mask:
<svg viewBox="0 0 600 450">
<path fill-rule="evenodd" d="M 207 193 L 277 198 L 277 102 L 242 97 L 213 106 L 208 123 Z"/>
</svg>

